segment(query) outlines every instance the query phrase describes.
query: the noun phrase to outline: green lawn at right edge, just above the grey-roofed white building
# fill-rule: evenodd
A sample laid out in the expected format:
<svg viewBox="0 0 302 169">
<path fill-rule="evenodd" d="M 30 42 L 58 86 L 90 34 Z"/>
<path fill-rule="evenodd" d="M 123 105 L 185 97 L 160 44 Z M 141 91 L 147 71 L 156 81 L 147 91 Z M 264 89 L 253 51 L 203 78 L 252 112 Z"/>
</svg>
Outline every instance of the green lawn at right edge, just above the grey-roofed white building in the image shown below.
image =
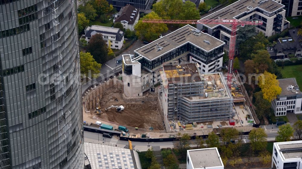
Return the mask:
<svg viewBox="0 0 302 169">
<path fill-rule="evenodd" d="M 296 78 L 296 81 L 298 83 L 298 86 L 302 86 L 302 65 L 293 65 L 293 66 L 284 66 L 279 67 L 281 70 L 283 78 Z"/>
</svg>

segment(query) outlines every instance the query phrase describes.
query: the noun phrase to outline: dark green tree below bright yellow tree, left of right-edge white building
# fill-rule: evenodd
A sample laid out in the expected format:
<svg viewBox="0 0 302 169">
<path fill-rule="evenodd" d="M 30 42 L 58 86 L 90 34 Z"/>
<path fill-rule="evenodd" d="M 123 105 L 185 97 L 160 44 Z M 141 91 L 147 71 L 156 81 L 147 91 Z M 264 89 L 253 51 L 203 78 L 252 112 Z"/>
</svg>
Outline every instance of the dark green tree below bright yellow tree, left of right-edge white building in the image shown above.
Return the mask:
<svg viewBox="0 0 302 169">
<path fill-rule="evenodd" d="M 272 114 L 271 111 L 271 102 L 263 99 L 262 91 L 258 91 L 254 93 L 255 98 L 255 106 L 256 106 L 256 114 L 260 117 L 269 117 Z"/>
</svg>

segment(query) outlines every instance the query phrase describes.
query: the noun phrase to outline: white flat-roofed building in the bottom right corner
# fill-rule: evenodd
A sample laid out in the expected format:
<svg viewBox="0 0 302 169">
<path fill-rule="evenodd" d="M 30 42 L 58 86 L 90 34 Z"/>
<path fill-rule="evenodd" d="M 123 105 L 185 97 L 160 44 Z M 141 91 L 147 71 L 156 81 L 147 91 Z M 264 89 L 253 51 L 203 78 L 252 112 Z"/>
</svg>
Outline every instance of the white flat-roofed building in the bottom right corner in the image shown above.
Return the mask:
<svg viewBox="0 0 302 169">
<path fill-rule="evenodd" d="M 271 168 L 302 169 L 302 141 L 274 143 Z"/>
</svg>

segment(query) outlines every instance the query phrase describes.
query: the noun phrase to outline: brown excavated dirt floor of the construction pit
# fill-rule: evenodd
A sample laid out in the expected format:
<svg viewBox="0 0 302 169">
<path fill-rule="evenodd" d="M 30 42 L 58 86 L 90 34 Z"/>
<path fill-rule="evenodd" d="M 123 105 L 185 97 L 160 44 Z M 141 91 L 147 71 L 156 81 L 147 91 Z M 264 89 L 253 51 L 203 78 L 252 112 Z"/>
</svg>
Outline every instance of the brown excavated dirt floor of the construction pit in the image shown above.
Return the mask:
<svg viewBox="0 0 302 169">
<path fill-rule="evenodd" d="M 111 105 L 122 105 L 125 109 L 121 112 L 117 112 L 116 108 L 105 111 L 105 108 Z M 153 127 L 154 130 L 164 130 L 162 112 L 159 109 L 159 103 L 157 103 L 157 101 L 145 101 L 144 103 L 142 103 L 142 101 L 126 101 L 123 100 L 121 91 L 111 88 L 104 91 L 103 97 L 100 100 L 100 106 L 103 113 L 96 115 L 99 118 L 121 125 L 146 129 Z M 94 110 L 90 112 L 92 116 L 95 115 Z"/>
</svg>

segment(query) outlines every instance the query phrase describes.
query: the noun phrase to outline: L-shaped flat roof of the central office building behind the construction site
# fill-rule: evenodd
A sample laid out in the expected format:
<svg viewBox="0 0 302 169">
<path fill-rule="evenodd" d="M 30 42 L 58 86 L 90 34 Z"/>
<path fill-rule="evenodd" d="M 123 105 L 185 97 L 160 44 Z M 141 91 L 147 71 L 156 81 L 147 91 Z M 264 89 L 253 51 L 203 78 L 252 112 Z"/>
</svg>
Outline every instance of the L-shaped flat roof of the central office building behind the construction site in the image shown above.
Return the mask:
<svg viewBox="0 0 302 169">
<path fill-rule="evenodd" d="M 191 43 L 204 51 L 211 51 L 224 45 L 223 41 L 203 33 L 193 26 L 186 25 L 148 45 L 138 48 L 134 52 L 148 60 L 154 60 L 186 43 Z"/>
</svg>

